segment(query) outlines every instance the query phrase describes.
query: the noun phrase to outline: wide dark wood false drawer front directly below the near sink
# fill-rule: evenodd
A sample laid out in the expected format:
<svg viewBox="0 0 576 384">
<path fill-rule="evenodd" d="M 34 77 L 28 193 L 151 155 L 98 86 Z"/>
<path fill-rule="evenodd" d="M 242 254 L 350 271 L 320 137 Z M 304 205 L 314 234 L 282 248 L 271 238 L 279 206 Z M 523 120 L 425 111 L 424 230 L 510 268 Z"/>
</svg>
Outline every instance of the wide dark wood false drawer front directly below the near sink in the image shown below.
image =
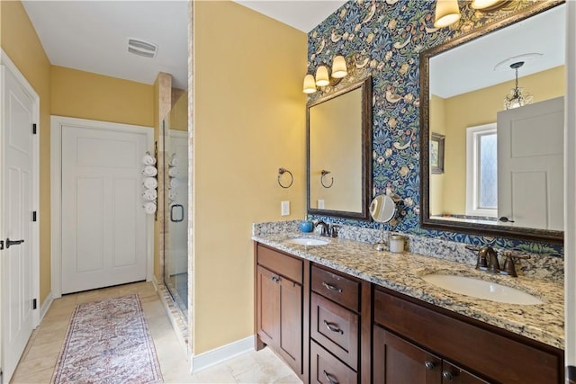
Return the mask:
<svg viewBox="0 0 576 384">
<path fill-rule="evenodd" d="M 559 350 L 500 328 L 441 313 L 415 299 L 374 290 L 374 322 L 491 380 L 539 384 L 563 381 Z"/>
</svg>

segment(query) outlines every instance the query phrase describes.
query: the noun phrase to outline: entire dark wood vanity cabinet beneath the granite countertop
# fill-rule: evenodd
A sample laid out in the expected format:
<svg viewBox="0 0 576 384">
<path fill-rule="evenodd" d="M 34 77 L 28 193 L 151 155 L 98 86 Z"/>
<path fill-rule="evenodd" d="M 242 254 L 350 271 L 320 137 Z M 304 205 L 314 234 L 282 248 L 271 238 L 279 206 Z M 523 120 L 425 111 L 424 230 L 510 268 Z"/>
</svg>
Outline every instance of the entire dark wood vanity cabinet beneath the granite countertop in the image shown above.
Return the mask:
<svg viewBox="0 0 576 384">
<path fill-rule="evenodd" d="M 562 384 L 563 351 L 255 243 L 256 347 L 304 383 Z"/>
</svg>

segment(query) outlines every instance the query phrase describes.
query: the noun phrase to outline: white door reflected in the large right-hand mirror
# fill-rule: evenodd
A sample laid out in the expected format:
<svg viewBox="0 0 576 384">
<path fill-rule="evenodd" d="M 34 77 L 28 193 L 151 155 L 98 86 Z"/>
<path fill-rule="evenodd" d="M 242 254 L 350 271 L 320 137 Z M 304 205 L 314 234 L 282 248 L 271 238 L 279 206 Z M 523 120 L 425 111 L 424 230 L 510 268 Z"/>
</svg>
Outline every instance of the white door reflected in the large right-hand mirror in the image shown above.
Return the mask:
<svg viewBox="0 0 576 384">
<path fill-rule="evenodd" d="M 563 97 L 498 113 L 501 225 L 563 230 Z"/>
</svg>

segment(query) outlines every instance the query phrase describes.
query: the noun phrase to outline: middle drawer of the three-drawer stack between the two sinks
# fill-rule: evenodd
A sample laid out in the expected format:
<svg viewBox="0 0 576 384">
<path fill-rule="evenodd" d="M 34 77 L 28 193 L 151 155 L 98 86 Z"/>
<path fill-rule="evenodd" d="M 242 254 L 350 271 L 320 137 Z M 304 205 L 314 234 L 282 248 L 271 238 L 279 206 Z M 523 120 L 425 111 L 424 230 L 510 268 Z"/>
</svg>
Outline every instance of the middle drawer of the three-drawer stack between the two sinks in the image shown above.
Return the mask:
<svg viewBox="0 0 576 384">
<path fill-rule="evenodd" d="M 311 293 L 311 337 L 346 362 L 358 367 L 358 315 Z"/>
</svg>

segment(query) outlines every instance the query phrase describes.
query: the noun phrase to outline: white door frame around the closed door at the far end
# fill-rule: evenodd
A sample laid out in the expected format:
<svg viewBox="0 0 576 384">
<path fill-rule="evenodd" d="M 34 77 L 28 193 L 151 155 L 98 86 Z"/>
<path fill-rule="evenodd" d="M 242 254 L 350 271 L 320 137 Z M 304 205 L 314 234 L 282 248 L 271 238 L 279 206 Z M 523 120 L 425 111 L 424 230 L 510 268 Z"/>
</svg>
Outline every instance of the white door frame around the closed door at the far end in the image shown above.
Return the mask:
<svg viewBox="0 0 576 384">
<path fill-rule="evenodd" d="M 62 297 L 62 126 L 79 125 L 85 128 L 105 129 L 115 132 L 146 135 L 146 147 L 154 153 L 154 129 L 140 125 L 121 124 L 109 121 L 94 121 L 50 116 L 50 227 L 51 227 L 51 273 L 52 297 Z M 144 156 L 144 154 L 142 154 Z M 146 218 L 146 281 L 154 276 L 154 217 Z"/>
</svg>

